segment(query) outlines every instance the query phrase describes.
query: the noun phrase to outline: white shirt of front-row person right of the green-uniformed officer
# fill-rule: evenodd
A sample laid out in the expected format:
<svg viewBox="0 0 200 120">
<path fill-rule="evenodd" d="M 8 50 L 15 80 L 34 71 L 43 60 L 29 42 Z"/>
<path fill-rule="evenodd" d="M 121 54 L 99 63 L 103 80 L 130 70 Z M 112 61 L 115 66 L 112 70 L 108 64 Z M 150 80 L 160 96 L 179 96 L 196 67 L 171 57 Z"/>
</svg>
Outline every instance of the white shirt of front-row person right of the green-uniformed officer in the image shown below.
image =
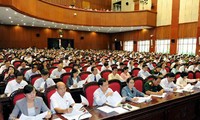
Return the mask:
<svg viewBox="0 0 200 120">
<path fill-rule="evenodd" d="M 168 82 L 167 78 L 161 80 L 160 85 L 164 89 L 164 91 L 172 92 L 173 88 L 177 88 L 177 85 L 174 82 Z"/>
</svg>

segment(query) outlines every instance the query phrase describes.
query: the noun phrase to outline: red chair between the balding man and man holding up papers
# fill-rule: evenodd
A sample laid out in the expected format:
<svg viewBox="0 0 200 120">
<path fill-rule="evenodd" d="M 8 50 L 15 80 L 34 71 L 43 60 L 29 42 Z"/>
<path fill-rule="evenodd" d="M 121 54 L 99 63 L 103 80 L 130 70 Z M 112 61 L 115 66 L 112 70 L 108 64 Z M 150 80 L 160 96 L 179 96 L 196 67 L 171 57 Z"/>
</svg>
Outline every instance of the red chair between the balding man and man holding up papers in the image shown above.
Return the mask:
<svg viewBox="0 0 200 120">
<path fill-rule="evenodd" d="M 93 94 L 94 94 L 95 90 L 98 88 L 99 88 L 99 85 L 97 82 L 89 82 L 83 86 L 83 92 L 89 102 L 89 106 L 93 106 L 93 101 L 94 101 Z"/>
</svg>

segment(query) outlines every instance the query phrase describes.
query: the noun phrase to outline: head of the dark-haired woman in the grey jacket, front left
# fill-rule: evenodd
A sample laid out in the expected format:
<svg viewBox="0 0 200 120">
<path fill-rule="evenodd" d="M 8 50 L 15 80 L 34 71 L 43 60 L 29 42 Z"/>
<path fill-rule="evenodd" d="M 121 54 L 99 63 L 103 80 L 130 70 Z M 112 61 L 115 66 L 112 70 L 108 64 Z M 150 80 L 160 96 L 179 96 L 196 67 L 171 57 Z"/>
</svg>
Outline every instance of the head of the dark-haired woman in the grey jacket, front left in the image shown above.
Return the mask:
<svg viewBox="0 0 200 120">
<path fill-rule="evenodd" d="M 32 85 L 26 85 L 24 87 L 24 94 L 28 101 L 33 101 L 35 99 L 36 91 Z"/>
</svg>

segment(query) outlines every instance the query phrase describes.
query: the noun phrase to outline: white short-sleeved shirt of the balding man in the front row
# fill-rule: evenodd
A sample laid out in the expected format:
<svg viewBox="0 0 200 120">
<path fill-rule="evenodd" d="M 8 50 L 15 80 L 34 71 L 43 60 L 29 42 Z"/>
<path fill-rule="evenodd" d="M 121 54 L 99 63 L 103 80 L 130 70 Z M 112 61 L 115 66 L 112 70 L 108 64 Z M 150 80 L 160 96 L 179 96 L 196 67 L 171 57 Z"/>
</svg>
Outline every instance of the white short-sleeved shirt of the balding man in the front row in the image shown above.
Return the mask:
<svg viewBox="0 0 200 120">
<path fill-rule="evenodd" d="M 74 99 L 72 98 L 71 94 L 69 92 L 66 92 L 63 97 L 61 97 L 58 92 L 56 91 L 51 97 L 50 97 L 51 103 L 50 108 L 53 113 L 55 113 L 54 108 L 61 108 L 61 109 L 67 109 L 70 107 L 70 105 L 74 104 Z"/>
</svg>

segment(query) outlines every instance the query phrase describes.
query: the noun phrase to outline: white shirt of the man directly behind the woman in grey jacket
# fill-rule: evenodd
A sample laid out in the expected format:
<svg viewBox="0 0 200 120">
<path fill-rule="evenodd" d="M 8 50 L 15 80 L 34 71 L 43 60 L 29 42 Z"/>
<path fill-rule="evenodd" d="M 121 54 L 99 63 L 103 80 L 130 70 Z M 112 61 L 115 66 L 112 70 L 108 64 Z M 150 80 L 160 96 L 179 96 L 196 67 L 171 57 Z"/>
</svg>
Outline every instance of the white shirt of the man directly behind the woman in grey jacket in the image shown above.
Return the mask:
<svg viewBox="0 0 200 120">
<path fill-rule="evenodd" d="M 15 90 L 18 90 L 18 89 L 23 89 L 24 86 L 27 84 L 28 83 L 24 80 L 22 80 L 20 83 L 17 83 L 15 79 L 11 80 L 7 83 L 4 93 L 7 94 L 8 96 L 10 96 L 10 94 L 12 92 L 14 92 Z"/>
</svg>

